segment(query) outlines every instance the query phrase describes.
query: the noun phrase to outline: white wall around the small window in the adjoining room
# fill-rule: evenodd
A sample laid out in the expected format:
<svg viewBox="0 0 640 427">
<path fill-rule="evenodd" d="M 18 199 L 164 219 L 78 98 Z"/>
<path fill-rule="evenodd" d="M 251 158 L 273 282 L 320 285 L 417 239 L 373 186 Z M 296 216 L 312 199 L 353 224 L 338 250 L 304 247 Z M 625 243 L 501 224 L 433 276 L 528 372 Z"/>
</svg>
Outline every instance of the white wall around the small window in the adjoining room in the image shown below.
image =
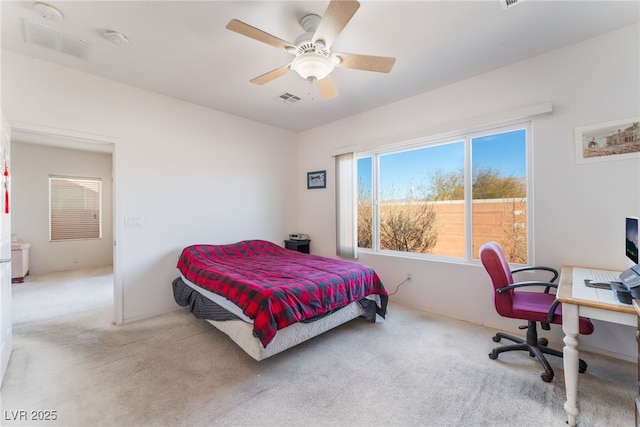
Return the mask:
<svg viewBox="0 0 640 427">
<path fill-rule="evenodd" d="M 113 263 L 111 154 L 11 144 L 11 231 L 29 248 L 31 274 Z M 49 241 L 49 175 L 101 178 L 102 239 Z"/>
</svg>

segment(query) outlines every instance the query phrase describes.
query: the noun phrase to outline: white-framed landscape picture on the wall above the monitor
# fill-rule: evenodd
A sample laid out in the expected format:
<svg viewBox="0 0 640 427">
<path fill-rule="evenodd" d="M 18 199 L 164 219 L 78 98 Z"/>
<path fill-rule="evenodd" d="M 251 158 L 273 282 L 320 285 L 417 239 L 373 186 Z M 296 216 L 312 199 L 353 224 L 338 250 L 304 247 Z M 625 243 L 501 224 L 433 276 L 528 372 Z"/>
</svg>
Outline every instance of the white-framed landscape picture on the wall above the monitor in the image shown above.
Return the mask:
<svg viewBox="0 0 640 427">
<path fill-rule="evenodd" d="M 640 157 L 640 117 L 576 128 L 575 144 L 576 163 Z"/>
</svg>

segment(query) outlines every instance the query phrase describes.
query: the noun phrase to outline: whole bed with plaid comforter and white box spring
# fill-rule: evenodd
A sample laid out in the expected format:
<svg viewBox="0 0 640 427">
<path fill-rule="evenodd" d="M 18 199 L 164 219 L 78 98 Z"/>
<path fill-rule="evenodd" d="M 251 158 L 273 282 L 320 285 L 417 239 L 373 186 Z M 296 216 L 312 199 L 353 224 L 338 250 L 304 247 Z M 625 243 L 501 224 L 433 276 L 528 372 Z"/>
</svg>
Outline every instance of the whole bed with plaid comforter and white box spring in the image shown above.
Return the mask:
<svg viewBox="0 0 640 427">
<path fill-rule="evenodd" d="M 262 360 L 338 325 L 384 317 L 388 294 L 372 268 L 265 240 L 182 250 L 176 303 Z"/>
</svg>

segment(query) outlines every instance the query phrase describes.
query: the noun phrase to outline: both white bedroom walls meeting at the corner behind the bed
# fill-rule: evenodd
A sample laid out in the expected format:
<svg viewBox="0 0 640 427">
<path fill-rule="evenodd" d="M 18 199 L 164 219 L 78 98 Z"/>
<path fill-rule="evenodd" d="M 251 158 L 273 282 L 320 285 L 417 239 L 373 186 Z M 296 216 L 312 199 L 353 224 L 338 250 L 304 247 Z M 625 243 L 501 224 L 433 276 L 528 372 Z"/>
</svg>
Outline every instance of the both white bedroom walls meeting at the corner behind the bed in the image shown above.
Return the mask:
<svg viewBox="0 0 640 427">
<path fill-rule="evenodd" d="M 533 124 L 533 259 L 622 269 L 623 218 L 640 214 L 640 161 L 576 165 L 573 130 L 640 112 L 639 33 L 635 25 L 298 136 L 8 51 L 2 110 L 10 122 L 116 142 L 114 232 L 125 320 L 175 307 L 169 284 L 190 243 L 280 241 L 299 230 L 311 235 L 314 253 L 333 256 L 333 149 L 429 136 L 545 101 L 554 113 Z M 425 72 L 434 66 L 425 64 Z M 306 190 L 306 172 L 322 169 L 327 189 Z M 125 216 L 141 216 L 145 226 L 124 229 Z M 390 290 L 413 273 L 393 302 L 496 328 L 518 324 L 494 313 L 477 264 L 361 260 Z M 553 332 L 559 342 L 561 331 Z M 632 357 L 634 336 L 633 328 L 597 323 L 582 342 Z"/>
</svg>

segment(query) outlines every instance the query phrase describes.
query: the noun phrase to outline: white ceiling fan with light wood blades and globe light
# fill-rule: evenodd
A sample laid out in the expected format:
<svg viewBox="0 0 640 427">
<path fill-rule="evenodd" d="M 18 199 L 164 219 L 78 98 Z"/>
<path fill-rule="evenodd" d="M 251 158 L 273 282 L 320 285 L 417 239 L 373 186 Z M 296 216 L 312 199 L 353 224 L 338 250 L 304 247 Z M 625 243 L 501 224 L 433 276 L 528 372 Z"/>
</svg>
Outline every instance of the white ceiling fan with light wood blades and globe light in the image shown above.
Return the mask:
<svg viewBox="0 0 640 427">
<path fill-rule="evenodd" d="M 227 29 L 295 55 L 291 63 L 271 70 L 251 81 L 263 85 L 289 71 L 296 71 L 302 78 L 315 83 L 323 99 L 338 96 L 338 91 L 329 75 L 334 67 L 388 73 L 396 62 L 386 56 L 358 55 L 354 53 L 332 53 L 331 46 L 344 27 L 356 13 L 360 3 L 348 0 L 331 0 L 323 17 L 305 15 L 300 26 L 305 31 L 294 43 L 282 40 L 237 19 L 227 24 Z"/>
</svg>

